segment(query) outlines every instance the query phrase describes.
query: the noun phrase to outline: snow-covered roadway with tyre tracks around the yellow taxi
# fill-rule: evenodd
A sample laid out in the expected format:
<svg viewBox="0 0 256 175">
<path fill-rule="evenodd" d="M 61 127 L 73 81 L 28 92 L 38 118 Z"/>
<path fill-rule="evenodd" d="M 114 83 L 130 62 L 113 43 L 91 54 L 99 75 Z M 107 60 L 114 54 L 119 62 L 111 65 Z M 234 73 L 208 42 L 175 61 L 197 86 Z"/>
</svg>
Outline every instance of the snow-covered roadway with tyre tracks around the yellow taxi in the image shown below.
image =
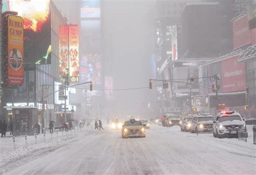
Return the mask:
<svg viewBox="0 0 256 175">
<path fill-rule="evenodd" d="M 146 138 L 92 131 L 8 174 L 256 174 L 256 145 L 152 125 Z"/>
</svg>

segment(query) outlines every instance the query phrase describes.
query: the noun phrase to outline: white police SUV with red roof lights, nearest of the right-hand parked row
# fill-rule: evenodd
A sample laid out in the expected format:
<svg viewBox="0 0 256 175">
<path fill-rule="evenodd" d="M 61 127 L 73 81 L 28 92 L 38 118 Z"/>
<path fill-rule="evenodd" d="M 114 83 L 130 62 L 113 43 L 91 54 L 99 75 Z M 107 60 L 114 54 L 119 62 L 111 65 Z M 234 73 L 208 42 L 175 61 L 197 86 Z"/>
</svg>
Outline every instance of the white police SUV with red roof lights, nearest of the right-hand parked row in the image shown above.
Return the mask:
<svg viewBox="0 0 256 175">
<path fill-rule="evenodd" d="M 246 124 L 236 111 L 221 111 L 213 123 L 213 136 L 218 138 L 238 137 L 238 129 L 246 132 Z"/>
</svg>

